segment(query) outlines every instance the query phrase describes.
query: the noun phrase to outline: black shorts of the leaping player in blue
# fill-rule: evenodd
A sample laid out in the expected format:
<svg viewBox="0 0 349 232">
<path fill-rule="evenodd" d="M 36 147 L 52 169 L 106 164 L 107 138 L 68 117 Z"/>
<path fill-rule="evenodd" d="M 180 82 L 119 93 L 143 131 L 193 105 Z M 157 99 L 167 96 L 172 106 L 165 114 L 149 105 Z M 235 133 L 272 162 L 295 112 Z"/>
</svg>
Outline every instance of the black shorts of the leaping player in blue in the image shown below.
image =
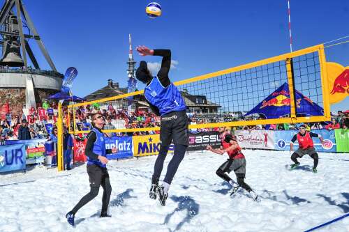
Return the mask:
<svg viewBox="0 0 349 232">
<path fill-rule="evenodd" d="M 188 116 L 186 111 L 173 111 L 161 116 L 160 143 L 169 146 L 173 144 L 189 145 Z"/>
</svg>

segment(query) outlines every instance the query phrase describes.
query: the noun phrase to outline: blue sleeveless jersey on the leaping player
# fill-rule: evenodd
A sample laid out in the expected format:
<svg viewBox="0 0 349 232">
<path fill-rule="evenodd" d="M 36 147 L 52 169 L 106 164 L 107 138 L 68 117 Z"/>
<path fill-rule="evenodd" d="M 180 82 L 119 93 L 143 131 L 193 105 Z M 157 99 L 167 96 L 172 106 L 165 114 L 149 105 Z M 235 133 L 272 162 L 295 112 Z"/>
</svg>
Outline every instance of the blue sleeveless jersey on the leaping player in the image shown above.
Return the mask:
<svg viewBox="0 0 349 232">
<path fill-rule="evenodd" d="M 157 77 L 154 77 L 150 84 L 145 87 L 144 96 L 151 105 L 158 107 L 161 116 L 172 111 L 186 110 L 186 103 L 184 103 L 177 87 L 172 83 L 164 87 Z"/>
</svg>

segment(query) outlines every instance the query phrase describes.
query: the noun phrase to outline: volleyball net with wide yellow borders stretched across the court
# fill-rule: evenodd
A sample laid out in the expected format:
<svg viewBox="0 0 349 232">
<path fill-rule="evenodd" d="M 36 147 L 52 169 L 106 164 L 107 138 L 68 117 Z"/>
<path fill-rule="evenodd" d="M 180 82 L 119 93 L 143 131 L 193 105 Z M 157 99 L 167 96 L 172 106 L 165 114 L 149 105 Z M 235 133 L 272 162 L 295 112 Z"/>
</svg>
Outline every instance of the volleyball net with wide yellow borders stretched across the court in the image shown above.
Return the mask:
<svg viewBox="0 0 349 232">
<path fill-rule="evenodd" d="M 330 120 L 323 45 L 174 82 L 193 123 L 189 128 Z M 143 91 L 68 106 L 70 133 L 87 133 L 102 114 L 104 132 L 159 130 Z"/>
</svg>

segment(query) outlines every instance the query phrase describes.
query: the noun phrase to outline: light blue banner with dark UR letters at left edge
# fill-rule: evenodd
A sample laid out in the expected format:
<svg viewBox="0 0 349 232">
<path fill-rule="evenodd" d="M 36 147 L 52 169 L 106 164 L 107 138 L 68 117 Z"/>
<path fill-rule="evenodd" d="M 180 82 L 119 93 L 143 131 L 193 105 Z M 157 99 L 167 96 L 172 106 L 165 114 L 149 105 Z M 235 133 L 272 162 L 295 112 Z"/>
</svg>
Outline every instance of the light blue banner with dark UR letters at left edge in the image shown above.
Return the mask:
<svg viewBox="0 0 349 232">
<path fill-rule="evenodd" d="M 25 169 L 24 144 L 0 146 L 0 172 Z"/>
</svg>

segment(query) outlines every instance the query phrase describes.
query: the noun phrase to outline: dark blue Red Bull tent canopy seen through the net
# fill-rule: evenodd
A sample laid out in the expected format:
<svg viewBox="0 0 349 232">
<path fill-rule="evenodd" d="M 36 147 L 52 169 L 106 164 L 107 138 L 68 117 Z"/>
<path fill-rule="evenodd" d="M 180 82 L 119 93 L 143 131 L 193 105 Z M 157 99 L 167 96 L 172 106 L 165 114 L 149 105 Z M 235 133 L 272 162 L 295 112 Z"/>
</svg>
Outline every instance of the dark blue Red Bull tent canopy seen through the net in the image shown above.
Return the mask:
<svg viewBox="0 0 349 232">
<path fill-rule="evenodd" d="M 321 116 L 323 109 L 310 98 L 295 90 L 296 115 L 297 116 Z M 245 116 L 251 114 L 262 114 L 266 119 L 281 118 L 289 115 L 290 112 L 290 91 L 288 84 L 284 83 L 276 89 L 265 100 L 256 105 Z"/>
</svg>

